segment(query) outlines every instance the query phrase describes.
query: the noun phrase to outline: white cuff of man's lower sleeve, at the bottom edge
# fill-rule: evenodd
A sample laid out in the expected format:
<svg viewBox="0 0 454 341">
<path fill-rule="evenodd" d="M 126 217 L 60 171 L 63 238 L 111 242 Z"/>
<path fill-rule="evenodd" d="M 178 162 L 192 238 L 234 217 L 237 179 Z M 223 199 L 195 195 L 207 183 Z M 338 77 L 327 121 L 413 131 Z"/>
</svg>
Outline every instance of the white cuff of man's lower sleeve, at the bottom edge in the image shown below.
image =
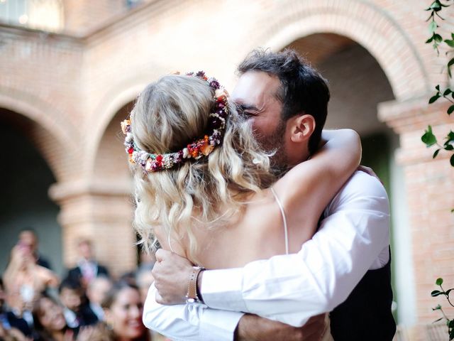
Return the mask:
<svg viewBox="0 0 454 341">
<path fill-rule="evenodd" d="M 201 340 L 233 341 L 236 326 L 244 313 L 206 309 L 200 320 Z"/>
</svg>

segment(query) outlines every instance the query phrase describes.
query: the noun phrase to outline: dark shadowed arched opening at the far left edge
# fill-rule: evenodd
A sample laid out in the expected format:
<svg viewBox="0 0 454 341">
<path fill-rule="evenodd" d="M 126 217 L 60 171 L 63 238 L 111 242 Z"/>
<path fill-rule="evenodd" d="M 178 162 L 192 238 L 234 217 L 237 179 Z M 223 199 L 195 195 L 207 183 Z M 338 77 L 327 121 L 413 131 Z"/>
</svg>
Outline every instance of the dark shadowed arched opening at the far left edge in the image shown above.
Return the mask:
<svg viewBox="0 0 454 341">
<path fill-rule="evenodd" d="M 22 229 L 37 232 L 40 253 L 52 270 L 63 273 L 60 210 L 50 200 L 48 189 L 56 182 L 48 161 L 40 151 L 44 129 L 21 114 L 0 108 L 0 268 L 3 271 L 11 248 Z"/>
</svg>

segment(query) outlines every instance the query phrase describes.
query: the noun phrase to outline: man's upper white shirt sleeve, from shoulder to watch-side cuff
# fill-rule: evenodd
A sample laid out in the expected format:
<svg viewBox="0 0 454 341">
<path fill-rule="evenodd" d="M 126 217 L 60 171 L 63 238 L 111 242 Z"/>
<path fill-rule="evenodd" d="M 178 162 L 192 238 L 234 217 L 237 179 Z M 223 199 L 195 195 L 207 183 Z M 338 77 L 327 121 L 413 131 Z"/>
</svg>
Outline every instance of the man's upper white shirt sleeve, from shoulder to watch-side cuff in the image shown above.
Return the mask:
<svg viewBox="0 0 454 341">
<path fill-rule="evenodd" d="M 326 216 L 297 254 L 253 261 L 243 269 L 204 271 L 204 302 L 294 326 L 336 308 L 387 251 L 387 194 L 376 178 L 356 172 Z"/>
</svg>

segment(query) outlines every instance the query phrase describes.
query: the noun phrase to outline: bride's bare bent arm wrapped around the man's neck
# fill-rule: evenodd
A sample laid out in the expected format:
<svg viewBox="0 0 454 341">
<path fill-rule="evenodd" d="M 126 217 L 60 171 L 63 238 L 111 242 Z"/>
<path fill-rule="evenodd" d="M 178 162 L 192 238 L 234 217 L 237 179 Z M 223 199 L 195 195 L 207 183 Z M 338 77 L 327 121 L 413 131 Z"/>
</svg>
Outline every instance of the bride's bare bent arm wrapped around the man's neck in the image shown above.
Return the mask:
<svg viewBox="0 0 454 341">
<path fill-rule="evenodd" d="M 326 143 L 308 161 L 292 168 L 273 186 L 287 212 L 289 227 L 312 227 L 324 208 L 358 168 L 361 144 L 351 129 L 323 131 Z"/>
</svg>

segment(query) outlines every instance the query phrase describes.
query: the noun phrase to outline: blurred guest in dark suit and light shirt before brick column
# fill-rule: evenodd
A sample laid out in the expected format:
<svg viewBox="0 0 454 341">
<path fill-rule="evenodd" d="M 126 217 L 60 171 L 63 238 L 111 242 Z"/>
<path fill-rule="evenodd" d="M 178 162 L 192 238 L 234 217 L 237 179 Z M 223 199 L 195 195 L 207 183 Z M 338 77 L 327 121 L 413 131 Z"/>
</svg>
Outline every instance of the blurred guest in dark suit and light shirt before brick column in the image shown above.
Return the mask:
<svg viewBox="0 0 454 341">
<path fill-rule="evenodd" d="M 77 266 L 68 271 L 68 278 L 72 281 L 79 281 L 82 288 L 87 288 L 88 284 L 97 276 L 109 277 L 107 268 L 99 264 L 94 258 L 92 242 L 89 239 L 79 240 L 77 247 L 79 261 Z"/>
</svg>

